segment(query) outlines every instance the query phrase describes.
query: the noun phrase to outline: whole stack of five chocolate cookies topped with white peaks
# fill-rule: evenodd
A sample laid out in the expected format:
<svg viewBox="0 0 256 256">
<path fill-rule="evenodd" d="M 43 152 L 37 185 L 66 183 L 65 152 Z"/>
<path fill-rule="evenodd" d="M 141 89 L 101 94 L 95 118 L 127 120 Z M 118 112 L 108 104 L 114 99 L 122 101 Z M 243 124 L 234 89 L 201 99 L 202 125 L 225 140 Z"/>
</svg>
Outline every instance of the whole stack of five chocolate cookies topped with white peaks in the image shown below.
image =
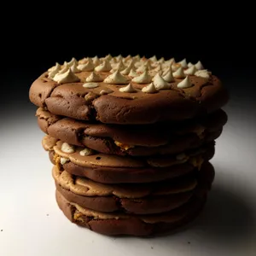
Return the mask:
<svg viewBox="0 0 256 256">
<path fill-rule="evenodd" d="M 149 236 L 199 214 L 228 102 L 200 61 L 73 58 L 43 73 L 29 96 L 70 221 L 105 235 Z"/>
</svg>

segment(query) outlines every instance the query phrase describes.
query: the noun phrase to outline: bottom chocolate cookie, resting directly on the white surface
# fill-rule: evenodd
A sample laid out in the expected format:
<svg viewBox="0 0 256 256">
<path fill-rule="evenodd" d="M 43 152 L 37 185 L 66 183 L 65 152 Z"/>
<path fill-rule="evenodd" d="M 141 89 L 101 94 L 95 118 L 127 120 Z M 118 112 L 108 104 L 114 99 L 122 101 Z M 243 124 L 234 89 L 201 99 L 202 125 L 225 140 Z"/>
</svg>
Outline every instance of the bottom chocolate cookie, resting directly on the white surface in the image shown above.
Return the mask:
<svg viewBox="0 0 256 256">
<path fill-rule="evenodd" d="M 194 197 L 171 212 L 137 216 L 96 212 L 67 201 L 58 191 L 55 196 L 61 211 L 71 222 L 107 236 L 153 236 L 177 230 L 196 218 L 206 202 L 205 196 Z"/>
</svg>

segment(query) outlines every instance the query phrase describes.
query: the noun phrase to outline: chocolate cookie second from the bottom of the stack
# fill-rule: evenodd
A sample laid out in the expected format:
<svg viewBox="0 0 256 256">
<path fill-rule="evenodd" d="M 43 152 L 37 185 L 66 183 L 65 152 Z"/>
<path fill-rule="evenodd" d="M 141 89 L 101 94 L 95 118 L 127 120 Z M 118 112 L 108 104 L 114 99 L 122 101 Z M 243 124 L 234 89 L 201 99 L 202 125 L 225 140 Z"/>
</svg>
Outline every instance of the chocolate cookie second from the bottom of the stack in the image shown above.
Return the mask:
<svg viewBox="0 0 256 256">
<path fill-rule="evenodd" d="M 160 183 L 109 185 L 73 176 L 58 166 L 52 171 L 56 189 L 67 201 L 100 212 L 135 214 L 169 212 L 189 201 L 201 189 L 210 189 L 214 174 L 212 165 L 203 165 L 200 173 L 203 174 L 195 172 L 195 175 Z"/>
</svg>

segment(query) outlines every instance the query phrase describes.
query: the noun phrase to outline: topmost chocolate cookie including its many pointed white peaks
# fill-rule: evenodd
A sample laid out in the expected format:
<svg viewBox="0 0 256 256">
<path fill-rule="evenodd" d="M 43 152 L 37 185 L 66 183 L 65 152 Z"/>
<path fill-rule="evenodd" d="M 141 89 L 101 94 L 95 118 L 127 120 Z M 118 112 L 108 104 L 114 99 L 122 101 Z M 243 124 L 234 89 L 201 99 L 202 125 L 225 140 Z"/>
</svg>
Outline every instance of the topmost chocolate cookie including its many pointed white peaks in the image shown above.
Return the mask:
<svg viewBox="0 0 256 256">
<path fill-rule="evenodd" d="M 228 101 L 220 80 L 185 60 L 74 58 L 34 81 L 30 100 L 51 113 L 107 124 L 152 124 L 212 113 Z"/>
</svg>

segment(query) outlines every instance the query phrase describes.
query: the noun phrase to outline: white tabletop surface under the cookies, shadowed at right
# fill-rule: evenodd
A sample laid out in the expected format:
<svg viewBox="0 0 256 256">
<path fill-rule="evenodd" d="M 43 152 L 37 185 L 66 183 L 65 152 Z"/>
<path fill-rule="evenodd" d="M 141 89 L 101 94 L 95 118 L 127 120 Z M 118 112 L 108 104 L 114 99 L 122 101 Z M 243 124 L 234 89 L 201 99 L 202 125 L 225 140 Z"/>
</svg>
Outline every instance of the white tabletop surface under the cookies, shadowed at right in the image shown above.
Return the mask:
<svg viewBox="0 0 256 256">
<path fill-rule="evenodd" d="M 0 123 L 0 255 L 255 255 L 255 119 L 237 109 L 227 109 L 201 217 L 188 230 L 150 239 L 101 236 L 70 223 L 55 203 L 35 108 Z"/>
</svg>

